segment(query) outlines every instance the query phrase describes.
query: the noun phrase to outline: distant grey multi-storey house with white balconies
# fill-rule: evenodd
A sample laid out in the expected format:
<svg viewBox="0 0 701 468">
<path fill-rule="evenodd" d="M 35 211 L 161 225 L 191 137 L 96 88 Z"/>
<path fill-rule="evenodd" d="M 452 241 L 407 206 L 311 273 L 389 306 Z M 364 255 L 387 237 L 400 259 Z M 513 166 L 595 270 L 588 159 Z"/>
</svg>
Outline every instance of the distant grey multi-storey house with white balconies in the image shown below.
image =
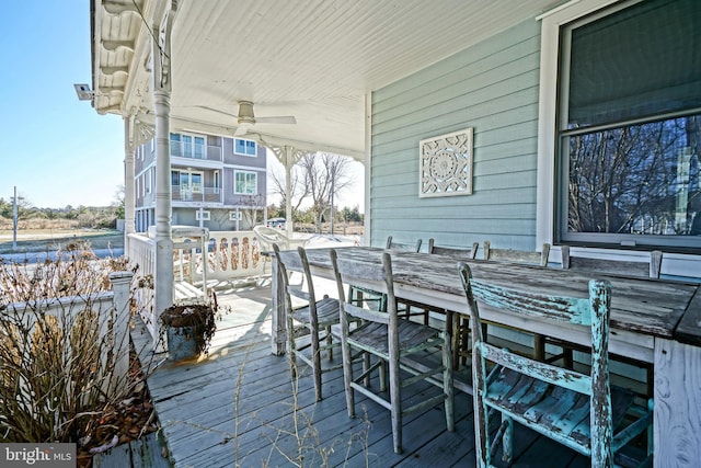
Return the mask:
<svg viewBox="0 0 701 468">
<path fill-rule="evenodd" d="M 136 230 L 156 225 L 156 139 L 135 155 Z M 172 224 L 209 230 L 251 229 L 266 206 L 266 150 L 256 141 L 170 134 Z"/>
</svg>

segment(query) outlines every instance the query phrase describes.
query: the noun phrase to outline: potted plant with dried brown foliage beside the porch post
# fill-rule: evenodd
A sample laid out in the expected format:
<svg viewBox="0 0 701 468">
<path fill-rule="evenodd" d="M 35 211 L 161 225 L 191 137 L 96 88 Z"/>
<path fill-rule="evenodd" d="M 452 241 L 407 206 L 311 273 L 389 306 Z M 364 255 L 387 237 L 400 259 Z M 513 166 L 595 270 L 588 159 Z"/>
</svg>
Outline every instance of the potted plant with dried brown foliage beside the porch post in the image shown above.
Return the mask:
<svg viewBox="0 0 701 468">
<path fill-rule="evenodd" d="M 171 361 L 183 361 L 207 354 L 211 336 L 217 330 L 219 306 L 211 292 L 210 300 L 202 304 L 176 304 L 161 313 L 160 321 L 166 338 Z"/>
</svg>

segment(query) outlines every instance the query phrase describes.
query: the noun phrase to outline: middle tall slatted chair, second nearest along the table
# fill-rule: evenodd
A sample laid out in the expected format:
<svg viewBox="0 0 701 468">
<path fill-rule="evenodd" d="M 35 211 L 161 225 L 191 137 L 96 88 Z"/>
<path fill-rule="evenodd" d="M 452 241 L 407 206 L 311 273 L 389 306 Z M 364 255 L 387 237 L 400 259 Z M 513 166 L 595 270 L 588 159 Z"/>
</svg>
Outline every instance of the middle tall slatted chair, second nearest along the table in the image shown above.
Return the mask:
<svg viewBox="0 0 701 468">
<path fill-rule="evenodd" d="M 390 410 L 397 454 L 402 453 L 402 419 L 410 412 L 426 410 L 443 402 L 446 426 L 448 431 L 453 431 L 452 366 L 447 326 L 443 330 L 436 330 L 399 316 L 390 252 L 382 253 L 381 264 L 343 259 L 334 249 L 330 254 L 341 297 L 341 349 L 348 415 L 355 418 L 356 391 Z M 386 310 L 360 307 L 346 300 L 344 284 L 357 278 L 381 284 L 379 292 L 387 296 Z M 361 322 L 355 329 L 350 329 L 350 320 Z M 417 366 L 412 359 L 425 350 L 435 349 L 440 349 L 441 362 L 433 368 Z M 371 365 L 364 366 L 359 375 L 355 374 L 353 366 L 353 356 L 357 352 L 374 358 Z M 367 376 L 376 369 L 380 369 L 380 385 L 377 389 L 366 385 Z M 384 377 L 386 369 L 389 374 L 389 388 Z M 411 377 L 405 378 L 407 374 Z M 428 395 L 422 396 L 418 402 L 406 407 L 406 402 L 402 401 L 402 389 L 418 381 L 433 384 L 439 388 L 439 391 L 426 390 Z"/>
</svg>

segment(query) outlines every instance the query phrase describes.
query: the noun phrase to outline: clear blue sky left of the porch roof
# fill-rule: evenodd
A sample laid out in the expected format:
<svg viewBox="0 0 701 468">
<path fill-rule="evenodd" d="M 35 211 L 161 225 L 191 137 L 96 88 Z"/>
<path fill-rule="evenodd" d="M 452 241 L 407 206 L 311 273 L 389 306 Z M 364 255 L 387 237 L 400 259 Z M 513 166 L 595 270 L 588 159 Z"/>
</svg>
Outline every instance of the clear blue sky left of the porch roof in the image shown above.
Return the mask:
<svg viewBox="0 0 701 468">
<path fill-rule="evenodd" d="M 124 124 L 78 101 L 90 83 L 90 0 L 3 2 L 0 197 L 39 208 L 107 206 L 124 184 Z"/>
</svg>

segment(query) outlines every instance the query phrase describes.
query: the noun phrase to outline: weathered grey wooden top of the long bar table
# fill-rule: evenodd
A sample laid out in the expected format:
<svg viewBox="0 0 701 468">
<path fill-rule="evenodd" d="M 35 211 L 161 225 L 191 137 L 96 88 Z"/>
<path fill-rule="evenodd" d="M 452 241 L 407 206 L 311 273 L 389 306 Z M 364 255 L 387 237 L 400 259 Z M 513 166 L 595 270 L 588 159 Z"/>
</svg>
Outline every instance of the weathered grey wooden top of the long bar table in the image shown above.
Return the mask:
<svg viewBox="0 0 701 468">
<path fill-rule="evenodd" d="M 317 274 L 331 273 L 330 249 L 308 249 L 310 265 Z M 380 262 L 382 249 L 348 247 L 336 249 L 338 256 L 359 261 Z M 464 292 L 458 275 L 457 264 L 464 260 L 472 269 L 474 278 L 524 290 L 538 290 L 551 295 L 588 297 L 590 274 L 560 269 L 541 269 L 519 264 L 484 262 L 481 260 L 456 259 L 452 255 L 392 251 L 395 294 L 400 297 L 416 294 L 415 299 L 428 300 L 435 305 L 443 301 L 463 308 L 467 312 Z M 611 282 L 611 328 L 613 334 L 628 331 L 647 338 L 675 339 L 675 330 L 682 319 L 701 317 L 701 285 L 678 281 L 625 277 L 600 274 L 597 278 Z M 370 286 L 370 285 L 368 285 Z M 430 297 L 427 297 L 430 296 Z M 409 297 L 414 299 L 414 297 Z M 433 305 L 433 304 L 432 304 Z M 697 326 L 696 336 L 701 340 Z M 688 327 L 687 335 L 693 339 L 693 327 Z M 689 338 L 686 340 L 689 342 Z M 697 343 L 699 344 L 699 343 Z"/>
</svg>

